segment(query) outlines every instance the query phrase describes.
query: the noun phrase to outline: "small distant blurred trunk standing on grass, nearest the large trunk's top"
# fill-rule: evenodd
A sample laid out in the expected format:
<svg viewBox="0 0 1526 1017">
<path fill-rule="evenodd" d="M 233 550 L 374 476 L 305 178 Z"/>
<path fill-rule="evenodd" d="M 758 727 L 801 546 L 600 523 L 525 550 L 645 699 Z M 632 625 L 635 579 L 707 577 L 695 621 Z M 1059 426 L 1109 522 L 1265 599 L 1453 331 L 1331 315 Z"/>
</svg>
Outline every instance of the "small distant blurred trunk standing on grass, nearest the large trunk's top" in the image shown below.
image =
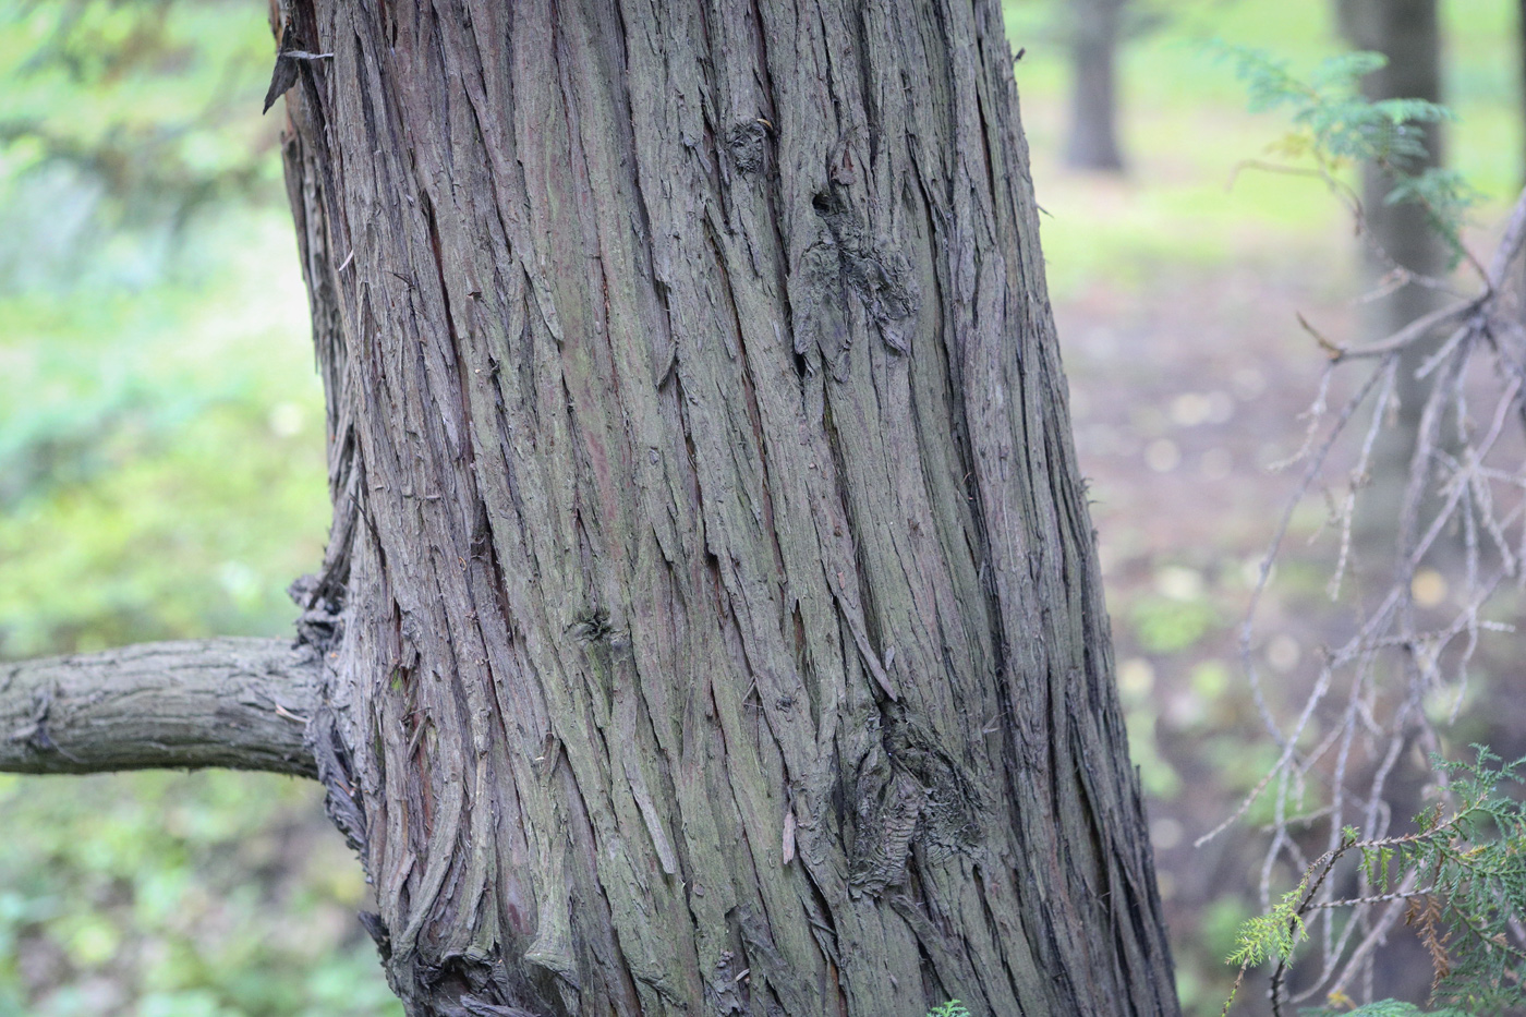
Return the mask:
<svg viewBox="0 0 1526 1017">
<path fill-rule="evenodd" d="M 1123 5 L 1074 0 L 1067 11 L 1073 81 L 1065 165 L 1076 170 L 1123 170 L 1116 67 Z"/>
</svg>

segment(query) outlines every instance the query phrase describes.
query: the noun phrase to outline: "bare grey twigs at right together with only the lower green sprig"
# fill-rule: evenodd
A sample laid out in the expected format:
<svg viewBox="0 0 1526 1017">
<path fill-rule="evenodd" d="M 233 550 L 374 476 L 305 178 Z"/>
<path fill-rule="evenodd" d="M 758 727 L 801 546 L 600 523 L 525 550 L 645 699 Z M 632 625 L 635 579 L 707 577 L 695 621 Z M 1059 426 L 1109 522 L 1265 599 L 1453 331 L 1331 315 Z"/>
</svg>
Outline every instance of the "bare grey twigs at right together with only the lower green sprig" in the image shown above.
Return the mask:
<svg viewBox="0 0 1526 1017">
<path fill-rule="evenodd" d="M 1352 553 L 1352 518 L 1364 493 L 1375 434 L 1393 397 L 1398 356 L 1425 342 L 1436 325 L 1454 325 L 1419 368 L 1428 394 L 1408 481 L 1396 505 L 1399 538 L 1390 579 L 1358 603 L 1351 635 L 1325 651 L 1294 721 L 1279 722 L 1262 707 L 1282 753 L 1231 817 L 1244 815 L 1262 794 L 1273 794 L 1260 895 L 1268 910 L 1265 918 L 1276 918 L 1283 930 L 1276 944 L 1262 944 L 1264 953 L 1251 950 L 1238 959 L 1244 974 L 1271 947 L 1270 956 L 1277 957 L 1271 982 L 1277 1014 L 1288 1002 L 1285 982 L 1294 947 L 1317 944 L 1311 957 L 1317 957 L 1317 973 L 1303 980 L 1306 988 L 1291 1002 L 1317 994 L 1344 1000 L 1352 993 L 1370 991 L 1375 954 L 1401 922 L 1413 927 L 1430 951 L 1437 1002 L 1476 1005 L 1502 991 L 1520 993 L 1526 936 L 1518 916 L 1526 901 L 1526 863 L 1512 861 L 1509 851 L 1520 854 L 1526 846 L 1526 822 L 1518 805 L 1499 791 L 1515 777 L 1515 765 L 1492 767 L 1497 760 L 1486 750 L 1479 750 L 1476 764 L 1437 762 L 1433 773 L 1437 806 L 1430 818 L 1422 817 L 1418 832 L 1407 835 L 1389 832 L 1395 817 L 1387 789 L 1410 748 L 1427 753 L 1444 748 L 1444 728 L 1460 710 L 1468 666 L 1482 634 L 1511 631 L 1488 617 L 1488 609 L 1499 591 L 1521 582 L 1526 547 L 1526 463 L 1521 461 L 1526 371 L 1515 321 L 1521 305 L 1518 279 L 1526 281 L 1523 235 L 1526 194 L 1511 215 L 1503 250 L 1492 258 L 1479 295 L 1433 315 L 1430 328 L 1412 325 L 1369 344 L 1360 350 L 1361 356 L 1347 356 L 1337 347 L 1309 409 L 1303 449 L 1293 460 L 1303 466 L 1297 501 L 1320 487 L 1341 449 L 1354 449 L 1355 466 L 1346 470 L 1346 490 L 1328 499 L 1332 527 L 1340 534 L 1329 588 L 1335 597 Z M 1360 362 L 1372 366 L 1354 394 L 1332 409 L 1332 376 Z M 1480 405 L 1486 414 L 1477 426 Z M 1372 415 L 1364 417 L 1364 409 Z M 1358 428 L 1358 420 L 1364 426 Z M 1289 504 L 1242 629 L 1241 652 L 1253 683 L 1254 609 L 1267 592 L 1270 565 L 1291 518 Z M 1457 588 L 1450 591 L 1451 608 L 1442 612 L 1436 605 L 1418 603 L 1415 589 L 1422 573 L 1447 556 L 1456 562 L 1451 571 L 1459 576 Z M 1437 701 L 1445 701 L 1445 709 L 1437 709 Z M 1317 722 L 1332 727 L 1315 739 Z M 1450 817 L 1437 818 L 1448 803 Z M 1329 835 L 1326 851 L 1311 861 L 1302 844 L 1314 823 L 1325 825 Z M 1357 828 L 1361 837 L 1355 835 Z M 1354 855 L 1361 857 L 1361 864 L 1351 864 Z M 1343 880 L 1326 878 L 1341 864 Z M 1273 883 L 1289 870 L 1305 878 L 1273 907 Z M 1357 893 L 1344 889 L 1349 886 L 1357 886 Z M 1270 935 L 1271 925 L 1259 928 Z"/>
</svg>

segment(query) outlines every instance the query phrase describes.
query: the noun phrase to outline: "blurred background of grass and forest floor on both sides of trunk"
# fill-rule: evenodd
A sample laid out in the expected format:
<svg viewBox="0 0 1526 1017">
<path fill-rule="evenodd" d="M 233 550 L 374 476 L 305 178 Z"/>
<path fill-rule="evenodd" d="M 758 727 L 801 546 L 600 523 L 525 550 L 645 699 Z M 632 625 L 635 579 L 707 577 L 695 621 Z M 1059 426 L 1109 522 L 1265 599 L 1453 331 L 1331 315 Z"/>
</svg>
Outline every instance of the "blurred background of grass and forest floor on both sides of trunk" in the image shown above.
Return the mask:
<svg viewBox="0 0 1526 1017">
<path fill-rule="evenodd" d="M 1436 6 L 1445 159 L 1486 250 L 1523 177 L 1520 12 Z M 1276 754 L 1236 638 L 1293 487 L 1265 467 L 1323 363 L 1296 313 L 1357 337 L 1370 279 L 1322 183 L 1236 176 L 1286 122 L 1207 41 L 1309 69 L 1352 26 L 1334 0 L 1006 9 L 1183 1002 L 1216 1014 L 1262 854 L 1251 828 L 1190 844 Z M 272 55 L 255 0 L 0 0 L 0 660 L 290 631 L 328 507 Z M 1112 130 L 1077 63 L 1114 76 Z M 1296 701 L 1334 547 L 1291 547 L 1254 652 Z M 1485 649 L 1457 744 L 1526 751 L 1511 660 Z M 362 896 L 308 783 L 0 774 L 0 1015 L 397 1015 Z"/>
</svg>

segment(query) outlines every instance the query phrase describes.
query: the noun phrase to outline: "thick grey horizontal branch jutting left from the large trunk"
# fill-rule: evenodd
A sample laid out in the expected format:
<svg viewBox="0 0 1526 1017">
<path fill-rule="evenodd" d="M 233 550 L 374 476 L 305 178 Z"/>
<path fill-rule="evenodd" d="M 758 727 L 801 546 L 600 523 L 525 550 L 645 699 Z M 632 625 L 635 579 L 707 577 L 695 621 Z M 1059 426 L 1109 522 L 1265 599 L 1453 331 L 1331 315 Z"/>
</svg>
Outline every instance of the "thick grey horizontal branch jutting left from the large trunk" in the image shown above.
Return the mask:
<svg viewBox="0 0 1526 1017">
<path fill-rule="evenodd" d="M 0 771 L 227 767 L 317 776 L 319 661 L 290 640 L 143 643 L 0 663 Z"/>
</svg>

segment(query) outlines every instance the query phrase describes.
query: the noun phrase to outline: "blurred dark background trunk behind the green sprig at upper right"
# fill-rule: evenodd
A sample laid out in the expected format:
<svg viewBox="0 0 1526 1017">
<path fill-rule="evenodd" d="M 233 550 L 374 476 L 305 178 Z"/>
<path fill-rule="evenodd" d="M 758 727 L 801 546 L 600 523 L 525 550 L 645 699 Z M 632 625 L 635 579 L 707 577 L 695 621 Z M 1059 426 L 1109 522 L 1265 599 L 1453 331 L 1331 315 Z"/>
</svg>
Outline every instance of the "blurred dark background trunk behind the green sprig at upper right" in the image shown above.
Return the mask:
<svg viewBox="0 0 1526 1017">
<path fill-rule="evenodd" d="M 1338 0 L 1338 12 L 1341 31 L 1355 49 L 1375 50 L 1389 58 L 1386 67 L 1363 81 L 1363 92 L 1369 99 L 1442 101 L 1436 0 Z M 1427 157 L 1405 170 L 1419 174 L 1428 166 L 1442 165 L 1441 125 L 1410 125 L 1407 130 L 1424 131 Z M 1425 211 L 1415 203 L 1387 205 L 1386 197 L 1392 189 L 1392 174 L 1373 166 L 1364 170 L 1363 215 L 1367 243 L 1363 258 L 1369 289 L 1389 282 L 1396 269 L 1428 278 L 1441 278 L 1447 272 L 1447 244 L 1431 229 Z M 1369 337 L 1387 336 L 1436 307 L 1439 296 L 1434 289 L 1404 284 L 1392 295 L 1366 305 L 1364 330 Z M 1373 449 L 1372 489 L 1364 499 L 1367 508 L 1357 519 L 1358 536 L 1367 545 L 1390 542 L 1395 536 L 1395 507 L 1408 481 L 1415 437 L 1430 389 L 1415 373 L 1433 348 L 1434 344 L 1418 344 L 1399 359 L 1396 425 L 1384 429 Z"/>
</svg>

